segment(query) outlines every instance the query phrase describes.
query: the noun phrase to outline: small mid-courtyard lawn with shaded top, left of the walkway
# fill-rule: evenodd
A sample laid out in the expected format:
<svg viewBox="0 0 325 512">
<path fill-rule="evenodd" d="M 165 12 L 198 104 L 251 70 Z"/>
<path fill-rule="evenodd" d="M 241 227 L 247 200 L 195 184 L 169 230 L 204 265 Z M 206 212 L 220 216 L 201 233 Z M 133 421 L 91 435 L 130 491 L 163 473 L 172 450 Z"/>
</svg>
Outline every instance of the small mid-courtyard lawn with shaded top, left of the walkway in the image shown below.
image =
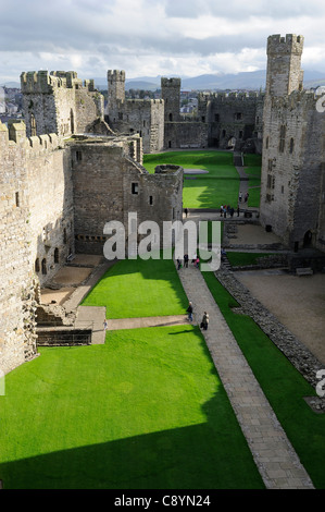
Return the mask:
<svg viewBox="0 0 325 512">
<path fill-rule="evenodd" d="M 172 259 L 125 259 L 111 267 L 83 301 L 105 306 L 108 318 L 182 315 L 188 301 Z"/>
</svg>

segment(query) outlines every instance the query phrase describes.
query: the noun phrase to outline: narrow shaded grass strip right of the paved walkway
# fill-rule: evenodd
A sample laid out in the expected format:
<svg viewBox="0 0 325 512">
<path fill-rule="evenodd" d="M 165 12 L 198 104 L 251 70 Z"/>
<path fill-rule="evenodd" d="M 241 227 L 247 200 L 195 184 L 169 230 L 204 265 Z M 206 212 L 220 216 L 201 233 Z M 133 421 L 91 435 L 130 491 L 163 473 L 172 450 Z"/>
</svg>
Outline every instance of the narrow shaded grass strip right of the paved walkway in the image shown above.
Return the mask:
<svg viewBox="0 0 325 512">
<path fill-rule="evenodd" d="M 303 397 L 314 389 L 250 317 L 232 312 L 234 298 L 212 272 L 202 273 L 277 418 L 316 488 L 325 488 L 325 415 Z"/>
</svg>

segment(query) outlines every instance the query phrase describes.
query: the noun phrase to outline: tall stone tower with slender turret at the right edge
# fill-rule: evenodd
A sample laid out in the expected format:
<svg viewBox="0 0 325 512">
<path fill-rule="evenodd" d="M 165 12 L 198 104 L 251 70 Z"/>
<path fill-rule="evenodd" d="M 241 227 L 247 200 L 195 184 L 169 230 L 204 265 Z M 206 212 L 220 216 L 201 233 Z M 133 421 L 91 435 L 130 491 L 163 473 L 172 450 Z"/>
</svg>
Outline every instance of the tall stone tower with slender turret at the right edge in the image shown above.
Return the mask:
<svg viewBox="0 0 325 512">
<path fill-rule="evenodd" d="M 302 87 L 303 37 L 270 36 L 263 108 L 260 219 L 298 252 L 324 242 L 318 219 L 324 169 L 324 114 Z"/>
</svg>

